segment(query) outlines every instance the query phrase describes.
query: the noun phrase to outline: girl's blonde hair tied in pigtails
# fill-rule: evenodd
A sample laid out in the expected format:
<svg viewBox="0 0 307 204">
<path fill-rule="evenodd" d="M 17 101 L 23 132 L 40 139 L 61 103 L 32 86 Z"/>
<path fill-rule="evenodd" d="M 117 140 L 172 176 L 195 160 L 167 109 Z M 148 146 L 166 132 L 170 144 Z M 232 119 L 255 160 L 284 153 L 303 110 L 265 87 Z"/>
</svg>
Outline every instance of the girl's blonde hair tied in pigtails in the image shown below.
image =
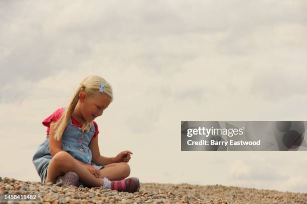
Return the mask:
<svg viewBox="0 0 307 204">
<path fill-rule="evenodd" d="M 87 96 L 90 96 L 90 97 L 95 96 L 99 93 L 101 83 L 104 83 L 103 93 L 107 94 L 111 98 L 111 102 L 112 102 L 113 93 L 112 93 L 112 87 L 110 83 L 108 83 L 104 78 L 100 76 L 96 76 L 96 75 L 91 75 L 91 76 L 84 78 L 81 81 L 79 87 L 76 89 L 75 94 L 73 95 L 68 105 L 68 108 L 64 110 L 59 120 L 55 123 L 57 127 L 55 130 L 55 134 L 54 134 L 55 139 L 59 141 L 60 138 L 62 137 L 62 134 L 66 126 L 68 125 L 69 119 L 78 103 L 79 93 L 85 92 Z M 88 131 L 92 123 L 93 121 L 92 122 L 85 121 L 82 125 L 82 132 L 84 132 L 85 130 Z"/>
</svg>

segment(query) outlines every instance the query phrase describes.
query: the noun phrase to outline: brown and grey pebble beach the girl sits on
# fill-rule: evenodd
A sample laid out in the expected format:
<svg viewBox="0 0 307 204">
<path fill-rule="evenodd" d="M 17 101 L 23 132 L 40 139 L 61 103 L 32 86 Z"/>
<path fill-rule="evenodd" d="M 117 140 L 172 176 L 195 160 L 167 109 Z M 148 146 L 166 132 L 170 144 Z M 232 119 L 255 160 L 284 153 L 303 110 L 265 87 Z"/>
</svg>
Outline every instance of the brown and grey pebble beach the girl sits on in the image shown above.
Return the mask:
<svg viewBox="0 0 307 204">
<path fill-rule="evenodd" d="M 6 194 L 36 194 L 37 200 L 8 200 Z M 0 177 L 0 203 L 307 203 L 307 193 L 223 185 L 140 183 L 135 193 Z"/>
</svg>

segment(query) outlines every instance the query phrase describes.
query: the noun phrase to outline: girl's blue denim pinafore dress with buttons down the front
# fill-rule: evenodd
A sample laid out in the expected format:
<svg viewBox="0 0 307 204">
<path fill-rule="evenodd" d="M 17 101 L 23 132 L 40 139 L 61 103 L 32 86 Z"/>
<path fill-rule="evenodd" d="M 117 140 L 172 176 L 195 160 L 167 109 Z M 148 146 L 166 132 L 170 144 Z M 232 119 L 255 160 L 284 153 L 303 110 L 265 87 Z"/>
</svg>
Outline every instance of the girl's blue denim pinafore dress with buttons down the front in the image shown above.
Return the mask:
<svg viewBox="0 0 307 204">
<path fill-rule="evenodd" d="M 92 162 L 92 151 L 88 146 L 94 133 L 94 124 L 91 125 L 89 131 L 82 132 L 81 128 L 74 125 L 70 118 L 62 135 L 62 149 L 70 153 L 75 159 L 86 164 L 94 165 L 97 169 L 101 169 L 104 166 L 99 166 Z M 42 183 L 45 182 L 47 168 L 51 158 L 49 134 L 47 134 L 46 140 L 39 145 L 32 159 L 34 166 L 41 177 Z"/>
</svg>

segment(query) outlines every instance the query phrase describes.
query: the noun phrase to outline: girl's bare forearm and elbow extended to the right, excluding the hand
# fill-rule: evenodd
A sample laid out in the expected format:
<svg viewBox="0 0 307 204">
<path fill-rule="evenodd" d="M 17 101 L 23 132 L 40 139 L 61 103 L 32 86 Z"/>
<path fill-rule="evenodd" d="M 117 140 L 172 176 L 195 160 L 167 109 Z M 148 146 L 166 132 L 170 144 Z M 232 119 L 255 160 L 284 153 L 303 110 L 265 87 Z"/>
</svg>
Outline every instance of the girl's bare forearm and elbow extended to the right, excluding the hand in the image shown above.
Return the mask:
<svg viewBox="0 0 307 204">
<path fill-rule="evenodd" d="M 109 163 L 115 163 L 114 157 L 105 157 L 100 155 L 99 146 L 98 146 L 98 136 L 92 138 L 91 142 L 89 143 L 89 147 L 92 151 L 92 161 L 96 165 L 107 165 Z"/>
</svg>

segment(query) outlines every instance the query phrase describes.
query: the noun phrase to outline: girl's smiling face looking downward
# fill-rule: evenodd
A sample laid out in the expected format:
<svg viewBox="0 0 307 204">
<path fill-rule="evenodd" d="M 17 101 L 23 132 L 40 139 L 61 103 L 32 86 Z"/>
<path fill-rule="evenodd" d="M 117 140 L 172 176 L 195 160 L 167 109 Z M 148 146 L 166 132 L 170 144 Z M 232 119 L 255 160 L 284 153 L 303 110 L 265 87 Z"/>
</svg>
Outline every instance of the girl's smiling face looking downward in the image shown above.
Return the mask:
<svg viewBox="0 0 307 204">
<path fill-rule="evenodd" d="M 98 93 L 96 96 L 86 96 L 85 93 L 80 93 L 80 113 L 82 119 L 91 122 L 96 117 L 102 115 L 103 110 L 107 108 L 111 102 L 110 96 L 105 93 Z"/>
</svg>

